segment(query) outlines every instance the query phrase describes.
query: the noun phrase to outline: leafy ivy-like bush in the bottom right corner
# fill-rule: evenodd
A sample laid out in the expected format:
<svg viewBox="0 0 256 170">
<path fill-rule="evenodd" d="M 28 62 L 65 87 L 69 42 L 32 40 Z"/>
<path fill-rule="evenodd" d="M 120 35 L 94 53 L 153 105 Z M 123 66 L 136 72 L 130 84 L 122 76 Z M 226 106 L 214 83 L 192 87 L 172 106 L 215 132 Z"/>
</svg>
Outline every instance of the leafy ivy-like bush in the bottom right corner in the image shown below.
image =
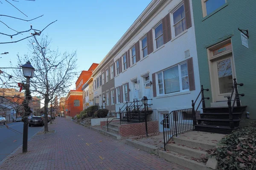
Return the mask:
<svg viewBox="0 0 256 170">
<path fill-rule="evenodd" d="M 256 170 L 256 122 L 225 136 L 212 150 L 221 170 Z"/>
</svg>

